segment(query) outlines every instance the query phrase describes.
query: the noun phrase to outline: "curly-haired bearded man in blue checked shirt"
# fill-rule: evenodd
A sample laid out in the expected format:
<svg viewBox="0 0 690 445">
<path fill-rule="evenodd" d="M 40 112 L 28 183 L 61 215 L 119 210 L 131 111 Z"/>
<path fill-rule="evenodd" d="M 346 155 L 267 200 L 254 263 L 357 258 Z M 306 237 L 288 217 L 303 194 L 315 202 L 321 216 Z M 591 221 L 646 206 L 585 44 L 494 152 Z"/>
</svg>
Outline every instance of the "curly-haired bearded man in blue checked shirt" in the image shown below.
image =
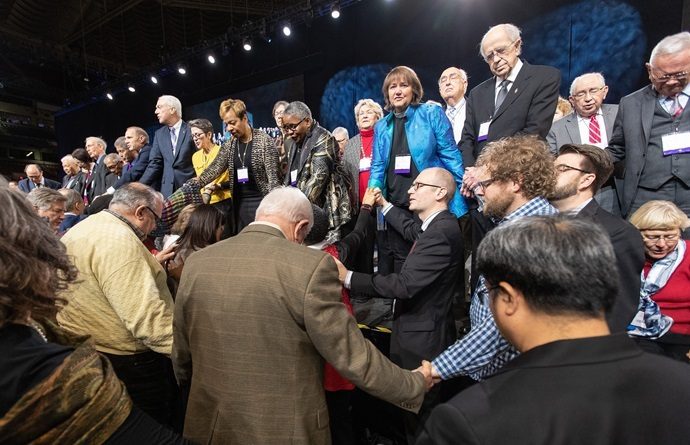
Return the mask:
<svg viewBox="0 0 690 445">
<path fill-rule="evenodd" d="M 555 215 L 546 200 L 555 185 L 553 155 L 533 136 L 514 136 L 490 142 L 477 159 L 473 192 L 483 212 L 497 225 L 525 216 Z M 436 381 L 468 375 L 481 380 L 493 374 L 518 352 L 501 336 L 491 315 L 489 292 L 482 276 L 472 295 L 472 329 L 432 364 Z"/>
</svg>

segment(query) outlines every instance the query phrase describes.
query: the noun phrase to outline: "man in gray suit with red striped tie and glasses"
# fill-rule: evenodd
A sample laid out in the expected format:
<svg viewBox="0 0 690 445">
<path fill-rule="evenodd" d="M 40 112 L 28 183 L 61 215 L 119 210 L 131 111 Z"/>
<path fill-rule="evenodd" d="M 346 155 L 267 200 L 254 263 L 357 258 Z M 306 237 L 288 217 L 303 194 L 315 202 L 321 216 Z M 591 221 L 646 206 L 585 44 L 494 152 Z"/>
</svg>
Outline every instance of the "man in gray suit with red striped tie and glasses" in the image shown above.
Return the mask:
<svg viewBox="0 0 690 445">
<path fill-rule="evenodd" d="M 618 105 L 603 104 L 608 91 L 609 87 L 600 73 L 586 73 L 573 80 L 569 100 L 574 111 L 554 122 L 546 136 L 554 154 L 558 155 L 558 150 L 565 144 L 606 148 L 618 112 Z M 595 199 L 606 211 L 621 214 L 613 176 L 603 184 Z"/>
</svg>

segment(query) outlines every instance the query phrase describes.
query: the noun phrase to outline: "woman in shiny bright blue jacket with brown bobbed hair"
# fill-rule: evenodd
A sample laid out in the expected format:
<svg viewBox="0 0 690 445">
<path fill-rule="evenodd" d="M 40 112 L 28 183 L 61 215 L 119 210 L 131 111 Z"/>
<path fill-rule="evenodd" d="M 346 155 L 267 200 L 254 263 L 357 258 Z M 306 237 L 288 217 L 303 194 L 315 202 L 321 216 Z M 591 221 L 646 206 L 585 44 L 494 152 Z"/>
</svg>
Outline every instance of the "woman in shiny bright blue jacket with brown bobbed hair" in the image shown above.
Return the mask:
<svg viewBox="0 0 690 445">
<path fill-rule="evenodd" d="M 462 156 L 443 109 L 421 103 L 422 84 L 417 74 L 406 66 L 395 67 L 388 73 L 382 92 L 384 108 L 390 113 L 374 127 L 369 187 L 380 188 L 388 202 L 409 211 L 407 191 L 419 172 L 442 167 L 451 172 L 458 185 L 449 210 L 457 217 L 467 213 L 460 194 Z M 398 272 L 412 243 L 393 230 L 387 231 L 386 238 L 379 242 L 383 250 L 379 252 L 379 273 Z M 393 258 L 393 270 L 389 269 L 390 263 L 386 264 L 386 255 Z"/>
</svg>

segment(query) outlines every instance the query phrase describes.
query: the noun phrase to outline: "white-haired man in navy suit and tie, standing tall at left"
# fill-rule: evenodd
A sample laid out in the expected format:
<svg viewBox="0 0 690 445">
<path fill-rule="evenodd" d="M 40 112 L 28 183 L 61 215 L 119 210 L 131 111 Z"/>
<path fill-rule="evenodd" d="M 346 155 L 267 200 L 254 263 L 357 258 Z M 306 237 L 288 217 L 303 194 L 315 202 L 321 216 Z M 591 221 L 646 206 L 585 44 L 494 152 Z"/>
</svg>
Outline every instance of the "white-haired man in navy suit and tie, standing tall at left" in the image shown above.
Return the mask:
<svg viewBox="0 0 690 445">
<path fill-rule="evenodd" d="M 195 176 L 195 146 L 187 123 L 182 120 L 182 103 L 178 98 L 159 97 L 155 113 L 163 127 L 156 130 L 149 162 L 139 182 L 155 187 L 160 181 L 159 191 L 167 198 Z"/>
</svg>

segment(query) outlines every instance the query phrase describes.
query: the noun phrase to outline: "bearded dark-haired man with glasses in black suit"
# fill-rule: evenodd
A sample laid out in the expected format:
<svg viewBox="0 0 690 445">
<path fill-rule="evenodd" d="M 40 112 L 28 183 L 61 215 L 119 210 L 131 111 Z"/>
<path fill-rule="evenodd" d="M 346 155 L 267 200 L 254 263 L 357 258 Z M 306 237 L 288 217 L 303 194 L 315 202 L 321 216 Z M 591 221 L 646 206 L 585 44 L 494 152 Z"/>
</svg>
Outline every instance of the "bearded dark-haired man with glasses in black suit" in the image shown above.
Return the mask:
<svg viewBox="0 0 690 445">
<path fill-rule="evenodd" d="M 599 207 L 594 199 L 612 171 L 613 162 L 606 150 L 583 144 L 561 146 L 556 158 L 557 179 L 551 203 L 559 212 L 587 218 L 608 233 L 616 254 L 620 285 L 606 321 L 611 332 L 625 332 L 640 301 L 644 245 L 639 230 Z"/>
</svg>

